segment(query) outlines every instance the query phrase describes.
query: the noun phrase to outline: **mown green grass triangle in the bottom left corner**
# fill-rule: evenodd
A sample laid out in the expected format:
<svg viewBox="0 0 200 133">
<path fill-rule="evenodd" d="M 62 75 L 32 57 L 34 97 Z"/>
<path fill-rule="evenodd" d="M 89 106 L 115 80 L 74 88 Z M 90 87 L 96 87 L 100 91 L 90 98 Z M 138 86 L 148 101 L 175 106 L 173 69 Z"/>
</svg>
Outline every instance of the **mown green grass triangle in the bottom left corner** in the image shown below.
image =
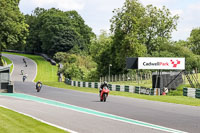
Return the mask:
<svg viewBox="0 0 200 133">
<path fill-rule="evenodd" d="M 0 133 L 66 133 L 66 131 L 0 107 Z"/>
</svg>

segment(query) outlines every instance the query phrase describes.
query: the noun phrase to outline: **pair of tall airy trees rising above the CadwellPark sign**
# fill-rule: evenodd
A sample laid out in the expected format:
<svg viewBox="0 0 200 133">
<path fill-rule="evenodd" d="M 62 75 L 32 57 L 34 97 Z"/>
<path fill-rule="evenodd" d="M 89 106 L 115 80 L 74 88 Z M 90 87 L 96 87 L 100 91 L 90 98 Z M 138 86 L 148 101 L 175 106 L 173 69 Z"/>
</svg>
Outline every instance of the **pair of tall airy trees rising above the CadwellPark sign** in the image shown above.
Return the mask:
<svg viewBox="0 0 200 133">
<path fill-rule="evenodd" d="M 151 55 L 160 51 L 176 29 L 178 16 L 168 9 L 144 7 L 138 0 L 126 0 L 123 7 L 114 10 L 111 19 L 113 33 L 112 60 L 116 73 L 125 72 L 126 57 Z"/>
</svg>

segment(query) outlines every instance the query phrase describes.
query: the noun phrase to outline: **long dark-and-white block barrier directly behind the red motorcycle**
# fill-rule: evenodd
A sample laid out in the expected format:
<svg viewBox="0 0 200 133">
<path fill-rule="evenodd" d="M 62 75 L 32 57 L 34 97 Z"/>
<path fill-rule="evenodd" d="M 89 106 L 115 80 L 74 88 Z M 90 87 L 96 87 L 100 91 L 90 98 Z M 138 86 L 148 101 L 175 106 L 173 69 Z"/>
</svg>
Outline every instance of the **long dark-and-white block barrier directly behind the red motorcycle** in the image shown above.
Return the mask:
<svg viewBox="0 0 200 133">
<path fill-rule="evenodd" d="M 101 83 L 99 82 L 82 82 L 82 81 L 72 81 L 69 79 L 65 79 L 65 83 L 71 86 L 76 87 L 87 87 L 87 88 L 100 88 Z M 111 91 L 122 91 L 122 92 L 131 92 L 137 94 L 145 94 L 145 95 L 160 95 L 161 91 L 159 88 L 145 88 L 141 86 L 127 86 L 127 85 L 116 85 L 116 84 L 108 84 L 109 89 Z"/>
</svg>

